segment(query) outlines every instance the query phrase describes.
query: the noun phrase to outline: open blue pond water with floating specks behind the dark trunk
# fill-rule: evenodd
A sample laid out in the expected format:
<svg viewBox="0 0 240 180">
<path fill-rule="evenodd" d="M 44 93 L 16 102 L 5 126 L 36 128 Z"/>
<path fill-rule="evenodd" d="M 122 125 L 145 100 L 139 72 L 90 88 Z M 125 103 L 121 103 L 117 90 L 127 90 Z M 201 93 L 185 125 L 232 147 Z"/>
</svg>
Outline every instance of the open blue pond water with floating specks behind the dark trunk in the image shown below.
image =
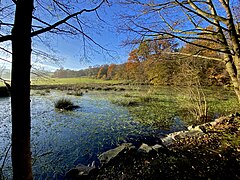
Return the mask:
<svg viewBox="0 0 240 180">
<path fill-rule="evenodd" d="M 80 108 L 71 112 L 56 111 L 54 102 L 60 97 L 70 99 Z M 35 179 L 61 179 L 69 169 L 78 164 L 91 164 L 100 153 L 116 147 L 129 137 L 168 133 L 141 125 L 134 121 L 126 107 L 112 104 L 105 97 L 101 92 L 78 97 L 61 91 L 31 96 Z M 10 98 L 0 98 L 0 165 L 10 145 L 9 109 Z M 6 176 L 10 176 L 10 154 L 4 167 Z"/>
</svg>

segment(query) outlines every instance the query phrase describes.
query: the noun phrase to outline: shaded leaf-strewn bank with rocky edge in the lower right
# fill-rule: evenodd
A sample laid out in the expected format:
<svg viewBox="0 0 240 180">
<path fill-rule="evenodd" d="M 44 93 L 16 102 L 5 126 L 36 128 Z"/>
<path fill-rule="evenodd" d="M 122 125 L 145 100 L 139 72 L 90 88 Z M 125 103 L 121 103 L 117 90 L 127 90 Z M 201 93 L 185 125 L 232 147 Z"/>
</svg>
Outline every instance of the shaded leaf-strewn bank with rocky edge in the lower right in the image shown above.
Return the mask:
<svg viewBox="0 0 240 180">
<path fill-rule="evenodd" d="M 238 113 L 170 133 L 161 143 L 140 147 L 124 143 L 99 156 L 99 169 L 90 166 L 86 173 L 84 166 L 77 166 L 71 178 L 240 179 Z"/>
</svg>

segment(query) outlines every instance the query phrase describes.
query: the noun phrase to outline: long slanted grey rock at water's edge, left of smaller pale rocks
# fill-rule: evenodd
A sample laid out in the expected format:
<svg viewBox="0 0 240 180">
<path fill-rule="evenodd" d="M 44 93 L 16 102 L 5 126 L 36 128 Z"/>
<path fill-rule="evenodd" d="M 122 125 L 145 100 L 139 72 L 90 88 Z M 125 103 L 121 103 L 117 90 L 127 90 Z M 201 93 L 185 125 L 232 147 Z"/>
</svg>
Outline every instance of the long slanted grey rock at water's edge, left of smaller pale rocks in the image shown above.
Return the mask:
<svg viewBox="0 0 240 180">
<path fill-rule="evenodd" d="M 123 143 L 121 146 L 116 147 L 115 149 L 110 149 L 99 155 L 98 159 L 100 160 L 101 166 L 109 163 L 113 158 L 115 158 L 119 153 L 126 149 L 135 148 L 132 146 L 132 143 Z"/>
</svg>

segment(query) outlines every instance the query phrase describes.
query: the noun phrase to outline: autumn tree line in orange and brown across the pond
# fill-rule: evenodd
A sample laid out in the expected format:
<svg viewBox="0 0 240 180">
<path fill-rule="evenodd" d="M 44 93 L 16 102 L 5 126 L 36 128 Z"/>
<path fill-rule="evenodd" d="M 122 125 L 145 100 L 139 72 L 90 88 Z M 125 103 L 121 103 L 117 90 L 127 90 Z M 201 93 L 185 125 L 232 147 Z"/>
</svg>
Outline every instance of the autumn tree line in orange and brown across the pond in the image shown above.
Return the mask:
<svg viewBox="0 0 240 180">
<path fill-rule="evenodd" d="M 198 40 L 198 43 L 202 42 Z M 185 54 L 197 55 L 186 57 Z M 202 56 L 222 58 L 221 53 L 203 51 L 194 45 L 178 48 L 173 40 L 148 39 L 139 43 L 123 64 L 105 64 L 78 71 L 61 68 L 54 72 L 53 77 L 91 77 L 152 85 L 186 85 L 186 80 L 192 77 L 199 79 L 204 86 L 230 84 L 225 64 Z"/>
</svg>

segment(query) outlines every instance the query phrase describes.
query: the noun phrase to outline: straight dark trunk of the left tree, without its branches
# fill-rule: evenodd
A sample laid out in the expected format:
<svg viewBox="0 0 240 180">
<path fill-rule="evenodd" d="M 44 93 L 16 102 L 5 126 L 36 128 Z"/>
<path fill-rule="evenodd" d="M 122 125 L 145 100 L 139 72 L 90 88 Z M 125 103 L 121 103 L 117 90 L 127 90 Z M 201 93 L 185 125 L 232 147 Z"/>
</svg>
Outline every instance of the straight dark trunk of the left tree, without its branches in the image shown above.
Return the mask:
<svg viewBox="0 0 240 180">
<path fill-rule="evenodd" d="M 33 0 L 17 0 L 12 29 L 12 167 L 13 179 L 33 179 L 30 147 L 30 69 Z"/>
</svg>

